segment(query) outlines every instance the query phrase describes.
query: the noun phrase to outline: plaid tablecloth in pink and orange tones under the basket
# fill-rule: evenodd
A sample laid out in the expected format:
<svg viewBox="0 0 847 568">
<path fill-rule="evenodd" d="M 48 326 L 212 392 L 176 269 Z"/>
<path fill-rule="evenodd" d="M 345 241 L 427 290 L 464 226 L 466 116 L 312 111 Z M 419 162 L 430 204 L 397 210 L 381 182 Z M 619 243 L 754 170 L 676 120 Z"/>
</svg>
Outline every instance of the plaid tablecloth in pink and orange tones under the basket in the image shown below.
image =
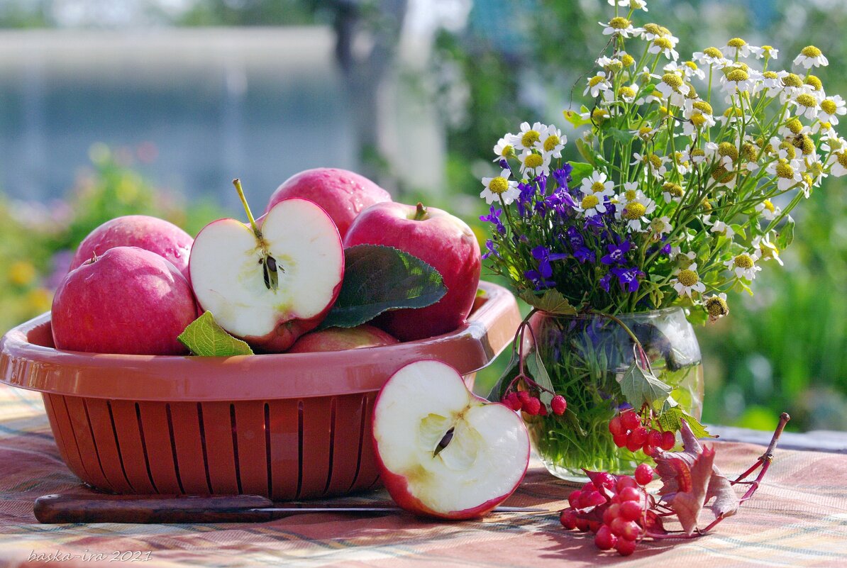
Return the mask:
<svg viewBox="0 0 847 568">
<path fill-rule="evenodd" d="M 717 463 L 738 473 L 762 449 L 717 443 Z M 507 505 L 550 514 L 465 522 L 307 514 L 262 524 L 37 523 L 33 500 L 69 490 L 79 491 L 79 480 L 59 458 L 40 395 L 0 385 L 0 566 L 847 566 L 847 455 L 819 452 L 778 451 L 756 497 L 716 532 L 643 544 L 626 559 L 598 554 L 592 535 L 562 529 L 556 511 L 573 486 L 539 464 Z M 113 560 L 121 554 L 137 560 Z"/>
</svg>

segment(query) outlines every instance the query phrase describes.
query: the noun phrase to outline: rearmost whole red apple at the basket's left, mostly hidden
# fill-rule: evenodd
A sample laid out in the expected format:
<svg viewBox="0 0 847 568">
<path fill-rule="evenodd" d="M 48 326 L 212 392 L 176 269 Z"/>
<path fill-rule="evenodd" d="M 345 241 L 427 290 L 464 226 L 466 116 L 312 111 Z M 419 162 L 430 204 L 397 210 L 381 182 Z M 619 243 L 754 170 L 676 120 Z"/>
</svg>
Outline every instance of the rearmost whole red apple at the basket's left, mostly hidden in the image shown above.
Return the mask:
<svg viewBox="0 0 847 568">
<path fill-rule="evenodd" d="M 188 254 L 191 235 L 174 223 L 147 215 L 127 215 L 102 223 L 82 240 L 70 261 L 70 269 L 79 267 L 95 255 L 115 246 L 137 246 L 169 260 L 188 278 Z"/>
</svg>

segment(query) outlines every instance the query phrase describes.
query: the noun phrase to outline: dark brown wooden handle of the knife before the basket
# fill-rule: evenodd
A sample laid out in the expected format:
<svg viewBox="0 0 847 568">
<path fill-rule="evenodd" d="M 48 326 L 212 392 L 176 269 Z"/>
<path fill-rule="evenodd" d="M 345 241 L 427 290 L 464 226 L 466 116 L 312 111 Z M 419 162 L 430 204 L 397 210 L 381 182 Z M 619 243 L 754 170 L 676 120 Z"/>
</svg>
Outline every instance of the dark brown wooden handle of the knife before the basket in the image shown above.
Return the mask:
<svg viewBox="0 0 847 568">
<path fill-rule="evenodd" d="M 64 522 L 257 522 L 274 516 L 249 511 L 273 507 L 259 495 L 62 494 L 36 499 L 36 519 Z"/>
</svg>

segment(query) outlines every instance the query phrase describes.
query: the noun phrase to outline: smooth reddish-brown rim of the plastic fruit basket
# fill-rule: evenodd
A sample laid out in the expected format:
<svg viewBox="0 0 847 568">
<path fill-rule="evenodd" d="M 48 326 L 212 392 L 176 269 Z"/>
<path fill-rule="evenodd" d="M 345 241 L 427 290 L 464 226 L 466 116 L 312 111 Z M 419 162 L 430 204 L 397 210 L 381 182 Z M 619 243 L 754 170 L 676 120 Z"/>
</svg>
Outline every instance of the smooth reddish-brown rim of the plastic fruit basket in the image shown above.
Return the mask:
<svg viewBox="0 0 847 568">
<path fill-rule="evenodd" d="M 444 361 L 466 375 L 499 355 L 521 321 L 509 290 L 484 281 L 479 288 L 485 301 L 451 333 L 318 353 L 197 357 L 57 350 L 30 341 L 30 334 L 49 333 L 47 312 L 0 339 L 0 383 L 110 400 L 236 401 L 375 391 L 400 367 L 421 359 Z"/>
</svg>

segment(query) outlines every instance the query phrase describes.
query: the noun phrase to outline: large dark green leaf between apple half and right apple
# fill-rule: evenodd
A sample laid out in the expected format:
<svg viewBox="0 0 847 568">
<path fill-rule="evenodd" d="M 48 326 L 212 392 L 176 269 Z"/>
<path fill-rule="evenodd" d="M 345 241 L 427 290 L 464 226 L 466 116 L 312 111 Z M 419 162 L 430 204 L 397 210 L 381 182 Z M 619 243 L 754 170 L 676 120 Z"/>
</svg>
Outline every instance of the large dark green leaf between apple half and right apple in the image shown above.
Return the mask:
<svg viewBox="0 0 847 568">
<path fill-rule="evenodd" d="M 446 293 L 441 274 L 417 256 L 391 246 L 351 246 L 338 299 L 320 328 L 355 328 L 387 310 L 430 306 Z"/>
</svg>

